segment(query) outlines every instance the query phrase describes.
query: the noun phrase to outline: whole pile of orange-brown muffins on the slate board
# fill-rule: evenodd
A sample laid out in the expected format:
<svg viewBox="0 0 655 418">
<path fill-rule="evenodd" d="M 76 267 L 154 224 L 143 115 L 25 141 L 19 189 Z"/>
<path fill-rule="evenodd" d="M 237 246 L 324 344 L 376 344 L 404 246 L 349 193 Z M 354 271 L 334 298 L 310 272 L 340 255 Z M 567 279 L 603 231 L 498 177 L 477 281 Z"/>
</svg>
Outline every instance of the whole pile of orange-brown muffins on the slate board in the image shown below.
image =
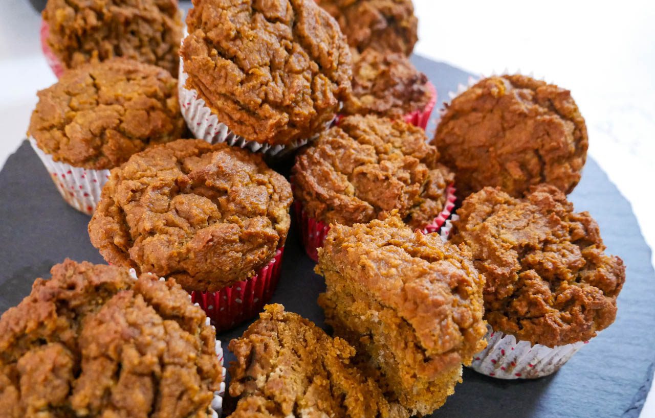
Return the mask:
<svg viewBox="0 0 655 418">
<path fill-rule="evenodd" d="M 484 78 L 428 143 L 411 0 L 193 0 L 185 39 L 174 0 L 78 3 L 43 13 L 60 79 L 29 138 L 112 266 L 67 260 L 2 316 L 0 416 L 215 416 L 215 333 L 257 313 L 230 416 L 428 415 L 462 366 L 552 374 L 614 321 L 568 90 Z M 334 337 L 265 307 L 292 205 Z"/>
</svg>

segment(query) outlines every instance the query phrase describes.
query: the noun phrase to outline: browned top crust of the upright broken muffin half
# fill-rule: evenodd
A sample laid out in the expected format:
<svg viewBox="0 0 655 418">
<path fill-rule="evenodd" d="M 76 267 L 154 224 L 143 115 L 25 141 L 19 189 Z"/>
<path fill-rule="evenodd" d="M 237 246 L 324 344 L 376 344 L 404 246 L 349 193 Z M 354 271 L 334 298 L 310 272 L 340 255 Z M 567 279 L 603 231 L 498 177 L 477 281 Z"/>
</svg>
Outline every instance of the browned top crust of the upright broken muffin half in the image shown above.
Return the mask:
<svg viewBox="0 0 655 418">
<path fill-rule="evenodd" d="M 398 338 L 420 350 L 417 367 L 443 372 L 485 347 L 484 278 L 469 253 L 438 234 L 413 231 L 397 216 L 333 225 L 318 254 L 317 273 L 338 272 L 411 326 Z"/>
</svg>

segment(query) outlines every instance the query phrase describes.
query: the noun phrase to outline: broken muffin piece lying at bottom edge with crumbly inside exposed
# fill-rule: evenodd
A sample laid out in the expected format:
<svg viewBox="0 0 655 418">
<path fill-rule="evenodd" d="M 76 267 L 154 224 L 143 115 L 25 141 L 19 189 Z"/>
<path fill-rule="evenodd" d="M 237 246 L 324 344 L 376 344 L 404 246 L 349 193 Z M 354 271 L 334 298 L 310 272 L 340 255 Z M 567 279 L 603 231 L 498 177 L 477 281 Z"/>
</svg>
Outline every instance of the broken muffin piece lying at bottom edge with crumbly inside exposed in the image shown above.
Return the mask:
<svg viewBox="0 0 655 418">
<path fill-rule="evenodd" d="M 264 309 L 229 345 L 230 395 L 241 397 L 231 418 L 409 416 L 350 364 L 355 350 L 346 341 L 282 305 Z"/>
</svg>

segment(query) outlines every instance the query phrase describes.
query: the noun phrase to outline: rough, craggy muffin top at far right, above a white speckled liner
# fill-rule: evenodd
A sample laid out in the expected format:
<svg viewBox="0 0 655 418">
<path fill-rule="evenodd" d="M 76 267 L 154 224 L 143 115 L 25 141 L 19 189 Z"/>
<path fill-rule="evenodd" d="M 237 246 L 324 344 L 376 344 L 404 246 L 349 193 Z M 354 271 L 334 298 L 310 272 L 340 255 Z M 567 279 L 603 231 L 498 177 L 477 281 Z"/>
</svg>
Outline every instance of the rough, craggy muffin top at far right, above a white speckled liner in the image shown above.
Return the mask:
<svg viewBox="0 0 655 418">
<path fill-rule="evenodd" d="M 626 271 L 605 254 L 598 224 L 555 186 L 523 199 L 486 187 L 462 203 L 451 241 L 485 275 L 485 319 L 519 340 L 554 347 L 586 341 L 616 317 Z"/>
</svg>

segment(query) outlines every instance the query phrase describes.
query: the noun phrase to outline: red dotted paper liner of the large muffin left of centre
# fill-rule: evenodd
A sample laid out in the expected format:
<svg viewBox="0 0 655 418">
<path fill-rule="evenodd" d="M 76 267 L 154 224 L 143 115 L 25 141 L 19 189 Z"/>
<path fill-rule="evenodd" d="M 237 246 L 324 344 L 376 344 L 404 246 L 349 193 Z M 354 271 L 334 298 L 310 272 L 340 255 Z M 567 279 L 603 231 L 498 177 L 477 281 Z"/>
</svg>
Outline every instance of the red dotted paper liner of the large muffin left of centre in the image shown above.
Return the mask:
<svg viewBox="0 0 655 418">
<path fill-rule="evenodd" d="M 280 279 L 283 253 L 284 247 L 278 249 L 269 264 L 249 279 L 218 292 L 191 292 L 191 301 L 202 307 L 217 332 L 234 328 L 259 314 L 271 300 Z"/>
</svg>

